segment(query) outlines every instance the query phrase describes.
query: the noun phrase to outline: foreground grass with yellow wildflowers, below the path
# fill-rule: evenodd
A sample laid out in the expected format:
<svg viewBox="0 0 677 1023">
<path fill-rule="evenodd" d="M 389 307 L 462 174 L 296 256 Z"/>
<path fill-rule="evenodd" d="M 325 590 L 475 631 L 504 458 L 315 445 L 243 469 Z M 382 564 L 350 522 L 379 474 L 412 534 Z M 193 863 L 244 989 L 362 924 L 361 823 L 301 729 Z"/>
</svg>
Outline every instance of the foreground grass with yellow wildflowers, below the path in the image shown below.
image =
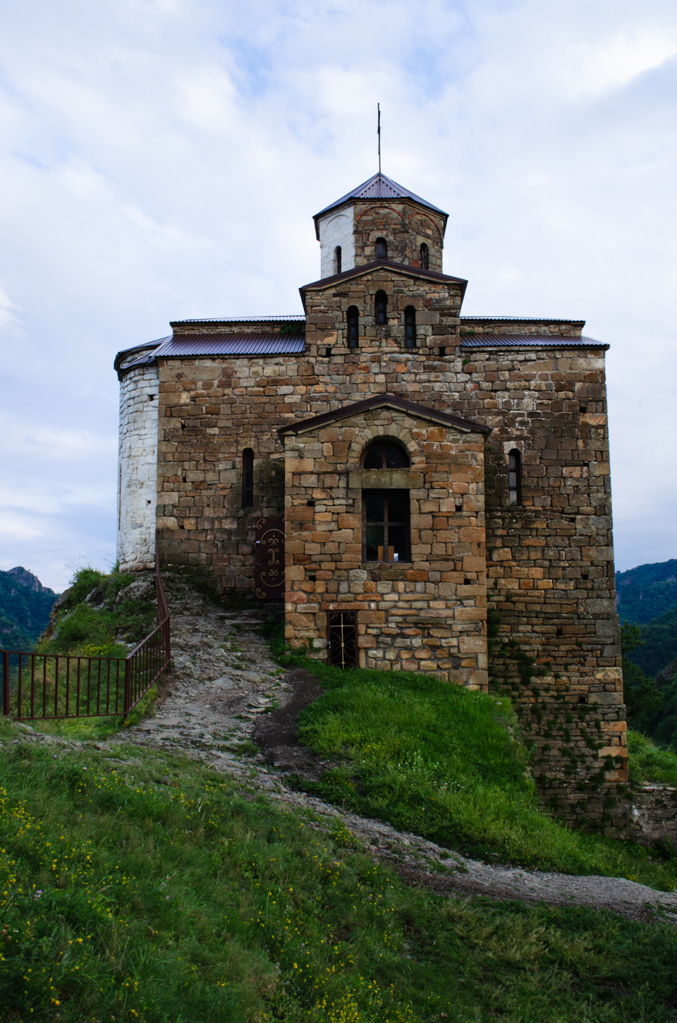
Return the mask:
<svg viewBox="0 0 677 1023">
<path fill-rule="evenodd" d="M 0 724 L 2 1019 L 672 1023 L 677 929 L 406 888 L 325 834 L 147 750 Z"/>
</svg>

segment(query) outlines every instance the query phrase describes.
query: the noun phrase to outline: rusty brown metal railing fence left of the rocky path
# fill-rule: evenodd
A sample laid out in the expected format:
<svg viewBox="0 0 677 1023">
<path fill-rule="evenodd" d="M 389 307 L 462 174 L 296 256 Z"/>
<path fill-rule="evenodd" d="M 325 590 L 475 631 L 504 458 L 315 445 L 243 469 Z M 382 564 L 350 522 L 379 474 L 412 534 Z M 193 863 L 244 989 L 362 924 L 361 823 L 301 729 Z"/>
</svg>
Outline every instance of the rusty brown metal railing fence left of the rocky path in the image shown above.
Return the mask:
<svg viewBox="0 0 677 1023">
<path fill-rule="evenodd" d="M 0 651 L 3 715 L 24 720 L 126 717 L 171 659 L 171 619 L 156 537 L 155 589 L 157 625 L 126 658 Z"/>
</svg>

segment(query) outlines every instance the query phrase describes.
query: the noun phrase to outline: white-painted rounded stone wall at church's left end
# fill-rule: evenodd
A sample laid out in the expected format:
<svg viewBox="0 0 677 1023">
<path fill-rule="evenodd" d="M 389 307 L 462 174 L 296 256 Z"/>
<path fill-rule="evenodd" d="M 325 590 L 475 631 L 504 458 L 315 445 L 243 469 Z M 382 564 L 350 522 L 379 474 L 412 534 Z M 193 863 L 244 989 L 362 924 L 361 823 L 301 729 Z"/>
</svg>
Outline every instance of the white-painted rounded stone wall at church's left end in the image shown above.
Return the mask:
<svg viewBox="0 0 677 1023">
<path fill-rule="evenodd" d="M 120 386 L 118 559 L 123 572 L 155 564 L 157 366 L 131 369 Z"/>
</svg>

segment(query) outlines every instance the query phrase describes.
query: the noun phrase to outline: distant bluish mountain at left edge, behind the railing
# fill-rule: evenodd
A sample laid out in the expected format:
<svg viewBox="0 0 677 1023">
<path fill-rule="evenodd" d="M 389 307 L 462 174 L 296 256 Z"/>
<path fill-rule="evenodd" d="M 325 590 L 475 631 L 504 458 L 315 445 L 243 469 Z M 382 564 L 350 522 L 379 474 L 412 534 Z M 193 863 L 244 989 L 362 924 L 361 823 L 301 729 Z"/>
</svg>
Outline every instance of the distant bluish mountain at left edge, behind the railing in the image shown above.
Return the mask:
<svg viewBox="0 0 677 1023">
<path fill-rule="evenodd" d="M 33 650 L 47 628 L 56 596 L 27 569 L 0 572 L 0 647 Z"/>
</svg>

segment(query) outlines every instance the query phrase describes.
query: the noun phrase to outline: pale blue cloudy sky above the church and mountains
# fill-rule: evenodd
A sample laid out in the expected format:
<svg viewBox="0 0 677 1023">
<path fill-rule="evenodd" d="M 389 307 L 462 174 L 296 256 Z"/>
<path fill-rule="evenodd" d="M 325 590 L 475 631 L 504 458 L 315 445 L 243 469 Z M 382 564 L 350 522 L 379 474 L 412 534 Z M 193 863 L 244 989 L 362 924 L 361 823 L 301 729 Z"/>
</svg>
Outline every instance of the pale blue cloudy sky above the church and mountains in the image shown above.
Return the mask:
<svg viewBox="0 0 677 1023">
<path fill-rule="evenodd" d="M 377 170 L 464 315 L 608 343 L 617 568 L 677 557 L 674 0 L 0 0 L 0 569 L 116 558 L 120 349 L 302 313 Z"/>
</svg>

